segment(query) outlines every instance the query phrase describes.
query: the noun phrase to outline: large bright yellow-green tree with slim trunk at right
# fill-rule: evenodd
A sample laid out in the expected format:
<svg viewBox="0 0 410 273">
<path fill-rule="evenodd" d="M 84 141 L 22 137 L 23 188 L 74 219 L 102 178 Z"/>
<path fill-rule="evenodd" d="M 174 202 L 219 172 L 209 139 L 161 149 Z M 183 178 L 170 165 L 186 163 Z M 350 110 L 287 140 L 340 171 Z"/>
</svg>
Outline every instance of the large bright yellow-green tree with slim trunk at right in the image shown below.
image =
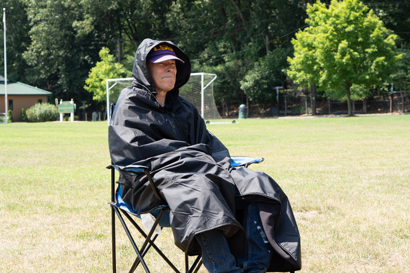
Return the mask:
<svg viewBox="0 0 410 273">
<path fill-rule="evenodd" d="M 327 97 L 347 100 L 352 116 L 353 85 L 382 85 L 394 71 L 397 36 L 358 0 L 333 0 L 329 7 L 316 2 L 306 12 L 310 24 L 292 41 L 288 75 L 297 83 L 317 82 Z M 344 90 L 344 92 L 341 92 Z"/>
</svg>

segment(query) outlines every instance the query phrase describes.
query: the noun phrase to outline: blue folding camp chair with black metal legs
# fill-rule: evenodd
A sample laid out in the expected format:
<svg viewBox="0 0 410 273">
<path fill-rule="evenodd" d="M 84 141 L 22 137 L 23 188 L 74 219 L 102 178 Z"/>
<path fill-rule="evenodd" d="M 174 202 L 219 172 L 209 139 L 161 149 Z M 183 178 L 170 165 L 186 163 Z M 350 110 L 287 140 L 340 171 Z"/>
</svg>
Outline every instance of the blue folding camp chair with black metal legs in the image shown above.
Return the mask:
<svg viewBox="0 0 410 273">
<path fill-rule="evenodd" d="M 253 158 L 253 157 L 244 157 L 244 156 L 235 156 L 231 157 L 231 165 L 233 167 L 239 167 L 239 166 L 245 166 L 248 167 L 249 164 L 252 163 L 260 163 L 263 161 L 263 158 Z M 155 234 L 155 229 L 157 226 L 159 227 L 170 227 L 170 221 L 169 221 L 169 207 L 167 205 L 162 205 L 158 206 L 152 209 L 150 214 L 154 216 L 155 222 L 152 225 L 148 235 L 144 232 L 144 229 L 141 228 L 141 226 L 134 220 L 134 218 L 131 215 L 136 216 L 137 218 L 141 218 L 141 214 L 134 213 L 132 211 L 132 208 L 129 207 L 121 198 L 122 196 L 122 185 L 118 186 L 118 191 L 115 190 L 115 170 L 122 172 L 124 174 L 132 174 L 132 175 L 146 175 L 148 178 L 148 181 L 150 182 L 150 185 L 152 187 L 152 191 L 154 192 L 155 196 L 161 200 L 153 179 L 148 171 L 148 168 L 145 166 L 140 166 L 140 165 L 128 165 L 128 166 L 119 166 L 119 165 L 109 165 L 107 166 L 108 169 L 111 169 L 111 208 L 112 208 L 112 259 L 113 259 L 113 272 L 116 272 L 116 246 L 115 246 L 115 215 L 117 215 L 122 227 L 124 227 L 124 230 L 136 252 L 136 259 L 134 263 L 132 264 L 130 268 L 130 272 L 133 272 L 136 267 L 141 264 L 145 271 L 148 273 L 150 272 L 146 261 L 144 260 L 144 256 L 148 253 L 148 250 L 152 247 L 154 248 L 157 253 L 162 257 L 163 260 L 165 260 L 168 265 L 175 271 L 175 272 L 180 272 L 176 266 L 168 259 L 168 257 L 162 253 L 162 251 L 159 249 L 159 247 L 155 244 L 155 240 L 158 237 L 158 234 Z M 138 230 L 138 232 L 145 238 L 145 241 L 142 242 L 141 246 L 138 247 L 137 244 L 134 241 L 134 238 L 132 237 L 130 230 L 127 226 L 127 223 L 124 221 L 125 216 L 130 223 Z M 202 262 L 201 262 L 201 255 L 198 255 L 195 259 L 195 261 L 189 265 L 189 257 L 187 254 L 185 254 L 185 272 L 191 273 L 191 272 L 197 272 L 199 268 L 201 267 Z"/>
</svg>

